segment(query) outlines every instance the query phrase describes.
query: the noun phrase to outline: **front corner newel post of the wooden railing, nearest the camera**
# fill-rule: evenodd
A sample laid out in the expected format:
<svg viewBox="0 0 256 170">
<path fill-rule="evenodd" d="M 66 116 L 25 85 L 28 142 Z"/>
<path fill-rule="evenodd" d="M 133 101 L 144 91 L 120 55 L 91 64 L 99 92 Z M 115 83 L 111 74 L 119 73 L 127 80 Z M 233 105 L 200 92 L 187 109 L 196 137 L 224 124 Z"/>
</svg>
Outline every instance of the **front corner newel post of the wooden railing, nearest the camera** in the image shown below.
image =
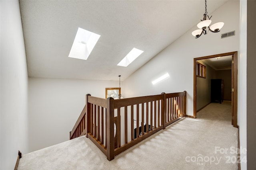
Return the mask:
<svg viewBox="0 0 256 170">
<path fill-rule="evenodd" d="M 107 159 L 114 159 L 114 98 L 107 98 Z"/>
</svg>

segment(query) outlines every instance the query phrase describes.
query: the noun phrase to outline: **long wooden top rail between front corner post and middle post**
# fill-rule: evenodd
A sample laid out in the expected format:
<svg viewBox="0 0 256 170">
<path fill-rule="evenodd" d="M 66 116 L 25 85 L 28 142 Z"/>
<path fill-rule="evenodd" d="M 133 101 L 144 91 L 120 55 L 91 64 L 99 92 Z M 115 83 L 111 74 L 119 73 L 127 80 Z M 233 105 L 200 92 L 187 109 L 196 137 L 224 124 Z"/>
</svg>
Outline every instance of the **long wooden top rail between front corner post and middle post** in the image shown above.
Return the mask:
<svg viewBox="0 0 256 170">
<path fill-rule="evenodd" d="M 146 103 L 146 102 L 162 100 L 162 99 L 163 99 L 162 94 L 154 95 L 154 96 L 135 97 L 135 98 L 123 98 L 123 99 L 115 100 L 114 107 L 118 108 L 118 107 L 124 107 L 124 106 L 131 106 L 134 104 Z"/>
</svg>

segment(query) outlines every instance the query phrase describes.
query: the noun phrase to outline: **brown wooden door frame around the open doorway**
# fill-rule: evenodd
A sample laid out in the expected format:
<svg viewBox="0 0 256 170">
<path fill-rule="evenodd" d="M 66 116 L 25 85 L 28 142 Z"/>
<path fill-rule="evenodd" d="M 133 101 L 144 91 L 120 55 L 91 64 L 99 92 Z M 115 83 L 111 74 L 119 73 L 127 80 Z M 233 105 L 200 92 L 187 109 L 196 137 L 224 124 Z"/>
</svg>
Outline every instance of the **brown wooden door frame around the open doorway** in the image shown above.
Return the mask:
<svg viewBox="0 0 256 170">
<path fill-rule="evenodd" d="M 238 73 L 237 51 L 194 58 L 194 115 L 193 117 L 196 118 L 196 61 L 202 60 L 202 59 L 210 59 L 214 57 L 224 57 L 228 55 L 232 55 L 232 99 L 231 99 L 232 121 L 231 123 L 234 127 L 237 127 L 237 73 Z"/>
</svg>

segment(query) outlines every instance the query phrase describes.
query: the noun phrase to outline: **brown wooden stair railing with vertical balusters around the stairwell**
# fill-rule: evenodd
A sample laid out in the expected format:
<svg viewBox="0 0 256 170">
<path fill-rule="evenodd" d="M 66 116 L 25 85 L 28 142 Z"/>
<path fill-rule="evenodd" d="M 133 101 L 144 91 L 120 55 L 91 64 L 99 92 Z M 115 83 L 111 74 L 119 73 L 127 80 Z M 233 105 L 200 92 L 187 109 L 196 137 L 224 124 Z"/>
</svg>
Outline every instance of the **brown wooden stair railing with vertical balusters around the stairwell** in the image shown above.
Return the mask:
<svg viewBox="0 0 256 170">
<path fill-rule="evenodd" d="M 116 100 L 88 94 L 70 139 L 85 134 L 112 160 L 184 116 L 186 91 Z"/>
</svg>

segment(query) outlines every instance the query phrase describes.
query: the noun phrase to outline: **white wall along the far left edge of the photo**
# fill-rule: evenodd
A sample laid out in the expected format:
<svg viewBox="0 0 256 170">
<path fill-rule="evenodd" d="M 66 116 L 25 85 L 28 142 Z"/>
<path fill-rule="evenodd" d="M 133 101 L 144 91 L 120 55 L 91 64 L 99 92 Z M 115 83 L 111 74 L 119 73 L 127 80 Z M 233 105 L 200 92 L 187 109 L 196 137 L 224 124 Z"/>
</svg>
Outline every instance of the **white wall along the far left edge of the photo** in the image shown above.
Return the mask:
<svg viewBox="0 0 256 170">
<path fill-rule="evenodd" d="M 28 152 L 28 75 L 18 0 L 1 0 L 1 166 L 14 169 Z"/>
</svg>

